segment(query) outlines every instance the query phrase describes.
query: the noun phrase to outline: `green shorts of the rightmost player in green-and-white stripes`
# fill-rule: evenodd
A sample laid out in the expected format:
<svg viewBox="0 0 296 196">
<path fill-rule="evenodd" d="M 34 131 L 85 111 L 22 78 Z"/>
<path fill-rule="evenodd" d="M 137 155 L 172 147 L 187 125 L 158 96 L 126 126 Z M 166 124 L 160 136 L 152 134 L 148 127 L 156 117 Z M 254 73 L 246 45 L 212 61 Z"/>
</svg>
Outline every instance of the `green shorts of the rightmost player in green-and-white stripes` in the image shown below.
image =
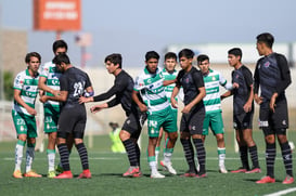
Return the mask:
<svg viewBox="0 0 296 196">
<path fill-rule="evenodd" d="M 203 135 L 208 135 L 208 128 L 211 129 L 213 134 L 224 133 L 224 126 L 222 119 L 222 113 L 206 114 L 203 126 Z"/>
</svg>

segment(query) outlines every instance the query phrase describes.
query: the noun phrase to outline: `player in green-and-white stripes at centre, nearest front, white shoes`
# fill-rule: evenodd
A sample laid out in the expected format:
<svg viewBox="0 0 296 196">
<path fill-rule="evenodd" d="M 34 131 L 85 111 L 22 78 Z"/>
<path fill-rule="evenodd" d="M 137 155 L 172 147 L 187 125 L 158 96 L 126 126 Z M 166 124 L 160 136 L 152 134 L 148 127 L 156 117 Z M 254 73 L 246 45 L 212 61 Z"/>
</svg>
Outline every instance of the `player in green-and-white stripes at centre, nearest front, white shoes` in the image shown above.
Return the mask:
<svg viewBox="0 0 296 196">
<path fill-rule="evenodd" d="M 151 178 L 162 179 L 165 175 L 157 171 L 157 162 L 155 159 L 155 147 L 160 127 L 168 132 L 169 141 L 164 153 L 164 167 L 172 174 L 177 174 L 171 166 L 171 155 L 173 146 L 178 138 L 177 123 L 172 115 L 170 104 L 167 100 L 165 87 L 171 83 L 164 81 L 162 71 L 158 69 L 159 55 L 155 51 L 149 51 L 145 54 L 146 67 L 137 77 L 136 84 L 132 91 L 132 100 L 138 104 L 141 112 L 147 113 L 147 129 L 149 129 L 149 146 L 147 160 L 151 169 Z M 175 80 L 172 80 L 175 81 Z M 140 102 L 138 94 L 144 101 Z"/>
</svg>

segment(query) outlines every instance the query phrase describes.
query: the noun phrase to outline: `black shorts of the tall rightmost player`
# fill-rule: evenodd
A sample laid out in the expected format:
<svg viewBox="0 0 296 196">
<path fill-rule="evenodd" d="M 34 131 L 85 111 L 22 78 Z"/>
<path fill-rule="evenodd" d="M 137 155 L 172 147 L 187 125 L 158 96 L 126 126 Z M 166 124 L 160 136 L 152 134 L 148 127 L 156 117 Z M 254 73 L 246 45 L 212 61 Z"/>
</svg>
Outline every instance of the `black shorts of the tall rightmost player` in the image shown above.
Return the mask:
<svg viewBox="0 0 296 196">
<path fill-rule="evenodd" d="M 269 105 L 269 103 L 266 103 Z M 259 112 L 259 128 L 263 130 L 265 134 L 285 134 L 288 128 L 288 114 L 286 100 L 276 102 L 274 113 L 268 107 L 261 107 Z"/>
</svg>

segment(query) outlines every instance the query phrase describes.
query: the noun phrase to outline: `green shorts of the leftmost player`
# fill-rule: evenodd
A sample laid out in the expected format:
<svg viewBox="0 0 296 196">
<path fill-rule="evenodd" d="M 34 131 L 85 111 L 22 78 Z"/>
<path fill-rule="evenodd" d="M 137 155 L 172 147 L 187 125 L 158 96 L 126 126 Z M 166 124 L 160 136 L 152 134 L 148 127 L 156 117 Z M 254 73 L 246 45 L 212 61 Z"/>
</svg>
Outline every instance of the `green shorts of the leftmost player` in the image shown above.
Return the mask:
<svg viewBox="0 0 296 196">
<path fill-rule="evenodd" d="M 37 138 L 35 116 L 20 114 L 12 109 L 12 119 L 17 133 L 17 138 L 20 134 L 26 134 L 29 139 Z"/>
</svg>

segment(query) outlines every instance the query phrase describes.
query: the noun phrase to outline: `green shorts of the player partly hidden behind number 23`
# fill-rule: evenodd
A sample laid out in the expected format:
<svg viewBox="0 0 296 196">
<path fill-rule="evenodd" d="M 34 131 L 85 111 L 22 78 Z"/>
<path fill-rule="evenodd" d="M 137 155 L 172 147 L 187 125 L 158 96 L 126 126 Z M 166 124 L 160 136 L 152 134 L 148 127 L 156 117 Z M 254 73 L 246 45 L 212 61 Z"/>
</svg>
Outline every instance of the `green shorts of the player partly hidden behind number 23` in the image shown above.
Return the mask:
<svg viewBox="0 0 296 196">
<path fill-rule="evenodd" d="M 57 131 L 57 121 L 60 118 L 60 106 L 44 105 L 44 132 L 51 133 Z"/>
</svg>

